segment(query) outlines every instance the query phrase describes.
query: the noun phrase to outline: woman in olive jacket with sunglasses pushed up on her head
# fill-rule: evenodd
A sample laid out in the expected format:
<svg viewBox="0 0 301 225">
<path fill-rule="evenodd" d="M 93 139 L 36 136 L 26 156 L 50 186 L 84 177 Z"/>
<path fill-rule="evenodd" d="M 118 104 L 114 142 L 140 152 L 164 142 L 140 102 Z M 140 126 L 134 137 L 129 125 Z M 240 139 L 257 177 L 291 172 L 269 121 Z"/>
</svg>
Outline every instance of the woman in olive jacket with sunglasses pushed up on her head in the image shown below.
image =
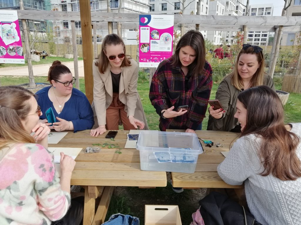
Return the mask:
<svg viewBox="0 0 301 225">
<path fill-rule="evenodd" d="M 238 94 L 259 85 L 275 90 L 273 79 L 265 73 L 264 66 L 262 48 L 243 44 L 233 71 L 222 80 L 216 91 L 215 99 L 219 100 L 222 108 L 213 110 L 209 107 L 207 130 L 240 132 L 238 120 L 234 118 Z"/>
</svg>

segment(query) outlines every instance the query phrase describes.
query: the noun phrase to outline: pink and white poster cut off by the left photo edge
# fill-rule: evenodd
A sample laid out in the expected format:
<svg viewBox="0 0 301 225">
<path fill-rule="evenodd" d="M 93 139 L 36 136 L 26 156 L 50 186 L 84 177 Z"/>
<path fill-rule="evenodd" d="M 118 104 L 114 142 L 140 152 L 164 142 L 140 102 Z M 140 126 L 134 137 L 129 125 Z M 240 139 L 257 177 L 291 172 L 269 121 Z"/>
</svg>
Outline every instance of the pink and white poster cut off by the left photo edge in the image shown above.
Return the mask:
<svg viewBox="0 0 301 225">
<path fill-rule="evenodd" d="M 18 14 L 16 10 L 0 10 L 0 63 L 24 64 Z"/>
</svg>

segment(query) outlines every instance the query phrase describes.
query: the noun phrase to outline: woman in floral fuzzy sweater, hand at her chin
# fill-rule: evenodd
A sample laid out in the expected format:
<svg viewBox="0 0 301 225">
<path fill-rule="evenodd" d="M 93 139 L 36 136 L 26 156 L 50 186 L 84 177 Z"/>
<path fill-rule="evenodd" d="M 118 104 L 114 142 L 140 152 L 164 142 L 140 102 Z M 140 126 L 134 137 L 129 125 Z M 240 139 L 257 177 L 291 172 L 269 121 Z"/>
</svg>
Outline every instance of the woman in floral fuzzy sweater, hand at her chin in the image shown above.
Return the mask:
<svg viewBox="0 0 301 225">
<path fill-rule="evenodd" d="M 51 224 L 61 220 L 70 207 L 70 179 L 75 161 L 61 153 L 60 180 L 54 170 L 53 155 L 46 150 L 50 129 L 39 122 L 41 114 L 30 91 L 17 86 L 0 87 L 2 225 Z M 74 217 L 81 222 L 82 214 Z"/>
</svg>

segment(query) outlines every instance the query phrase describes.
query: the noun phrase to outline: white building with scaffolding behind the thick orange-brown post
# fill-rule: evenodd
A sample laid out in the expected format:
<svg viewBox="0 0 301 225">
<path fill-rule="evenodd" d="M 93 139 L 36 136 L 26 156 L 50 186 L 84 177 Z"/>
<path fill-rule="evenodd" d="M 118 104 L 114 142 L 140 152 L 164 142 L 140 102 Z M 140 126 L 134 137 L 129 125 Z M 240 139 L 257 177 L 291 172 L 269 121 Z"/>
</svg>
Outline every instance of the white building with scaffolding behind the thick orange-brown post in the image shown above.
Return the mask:
<svg viewBox="0 0 301 225">
<path fill-rule="evenodd" d="M 95 11 L 103 11 L 107 12 L 107 1 L 106 0 L 90 0 L 91 12 Z M 118 12 L 119 1 L 111 0 L 110 1 L 110 9 L 111 12 Z M 121 13 L 148 13 L 150 9 L 150 4 L 148 4 L 148 0 L 123 0 Z M 51 0 L 51 10 L 56 11 L 67 11 L 67 12 L 79 12 L 79 0 Z M 76 28 L 76 42 L 77 44 L 82 44 L 81 37 L 81 22 L 75 22 Z M 71 24 L 70 21 L 54 21 L 54 31 L 56 35 L 59 37 L 59 43 L 68 42 L 71 37 Z M 117 33 L 116 30 L 113 31 Z M 138 30 L 122 30 L 122 38 L 126 45 L 137 44 L 137 34 Z M 97 29 L 96 31 L 96 42 L 100 44 L 102 39 L 108 34 L 107 29 Z M 94 37 L 92 37 L 92 41 L 94 41 Z"/>
</svg>

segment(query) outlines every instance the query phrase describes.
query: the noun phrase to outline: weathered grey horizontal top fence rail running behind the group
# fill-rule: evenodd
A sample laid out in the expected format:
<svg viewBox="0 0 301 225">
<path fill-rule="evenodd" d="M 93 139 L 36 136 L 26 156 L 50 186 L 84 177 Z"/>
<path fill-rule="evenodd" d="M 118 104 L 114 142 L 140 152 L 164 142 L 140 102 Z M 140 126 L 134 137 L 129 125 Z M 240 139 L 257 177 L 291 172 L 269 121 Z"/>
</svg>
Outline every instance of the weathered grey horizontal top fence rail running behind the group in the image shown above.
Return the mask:
<svg viewBox="0 0 301 225">
<path fill-rule="evenodd" d="M 45 10 L 17 10 L 19 19 L 80 20 L 79 12 Z M 300 26 L 301 16 L 211 16 L 175 14 L 174 23 L 211 25 L 254 26 Z M 91 12 L 91 20 L 98 22 L 133 22 L 139 20 L 138 13 Z"/>
</svg>

